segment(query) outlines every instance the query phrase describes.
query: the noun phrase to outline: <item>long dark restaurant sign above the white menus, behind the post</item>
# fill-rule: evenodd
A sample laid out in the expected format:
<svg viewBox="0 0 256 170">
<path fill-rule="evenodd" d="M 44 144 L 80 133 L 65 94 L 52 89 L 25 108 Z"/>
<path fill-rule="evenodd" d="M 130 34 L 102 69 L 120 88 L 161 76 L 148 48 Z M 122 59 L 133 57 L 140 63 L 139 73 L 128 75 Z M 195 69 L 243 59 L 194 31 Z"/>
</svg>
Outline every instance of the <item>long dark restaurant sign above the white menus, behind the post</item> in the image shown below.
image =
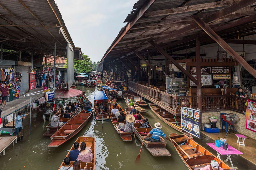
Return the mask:
<svg viewBox="0 0 256 170">
<path fill-rule="evenodd" d="M 230 66 L 203 66 L 201 74 L 229 74 Z M 190 66 L 190 74 L 196 74 L 196 67 Z"/>
</svg>

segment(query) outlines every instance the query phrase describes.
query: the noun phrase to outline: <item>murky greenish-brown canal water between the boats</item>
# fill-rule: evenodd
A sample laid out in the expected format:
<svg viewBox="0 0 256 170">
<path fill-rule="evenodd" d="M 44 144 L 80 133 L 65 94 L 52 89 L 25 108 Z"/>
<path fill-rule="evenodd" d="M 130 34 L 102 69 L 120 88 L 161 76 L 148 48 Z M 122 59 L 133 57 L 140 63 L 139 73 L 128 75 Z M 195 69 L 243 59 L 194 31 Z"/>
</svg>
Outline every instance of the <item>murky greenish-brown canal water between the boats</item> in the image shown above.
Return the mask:
<svg viewBox="0 0 256 170">
<path fill-rule="evenodd" d="M 85 86 L 77 86 L 76 88 L 85 91 L 92 103 L 94 99 L 94 91 L 99 91 L 99 87 L 88 89 Z M 124 99 L 118 100 L 118 103 L 122 108 L 126 107 Z M 160 122 L 163 126 L 162 130 L 167 136 L 169 136 L 169 133 L 173 132 L 180 134 L 178 131 L 161 121 L 148 106 L 144 107 L 144 109 L 148 112 L 143 114 L 143 116 L 148 118 L 152 125 Z M 73 139 L 56 148 L 49 148 L 48 144 L 51 142 L 51 139 L 43 136 L 46 131 L 46 125 L 49 124 L 49 119 L 44 123 L 42 112 L 32 114 L 31 135 L 29 135 L 29 117 L 27 117 L 24 122 L 24 141 L 22 144 L 20 142 L 14 144 L 14 147 L 9 146 L 5 150 L 5 155 L 0 156 L 1 169 L 57 170 L 76 138 L 78 136 L 83 136 L 84 133 L 92 134 L 93 137 L 95 137 L 96 170 L 188 169 L 177 154 L 172 143 L 168 140 L 166 140 L 166 148 L 171 153 L 170 157 L 154 157 L 147 151 L 147 149 L 143 148 L 141 151 L 140 162 L 139 164 L 135 164 L 134 162 L 139 154 L 141 142 L 138 138 L 136 139 L 137 143 L 135 143 L 135 141 L 123 142 L 110 121 L 103 122 L 102 126 L 102 123 L 96 121 L 95 117 L 93 117 Z M 5 136 L 8 136 L 8 134 L 5 134 Z M 204 136 L 202 139 L 195 140 L 215 154 L 215 152 L 206 145 L 206 143 L 213 142 L 213 140 Z M 221 158 L 226 159 L 224 156 Z M 239 169 L 256 169 L 252 163 L 240 156 L 232 156 L 232 161 Z M 227 164 L 230 165 L 229 162 L 227 162 Z"/>
</svg>

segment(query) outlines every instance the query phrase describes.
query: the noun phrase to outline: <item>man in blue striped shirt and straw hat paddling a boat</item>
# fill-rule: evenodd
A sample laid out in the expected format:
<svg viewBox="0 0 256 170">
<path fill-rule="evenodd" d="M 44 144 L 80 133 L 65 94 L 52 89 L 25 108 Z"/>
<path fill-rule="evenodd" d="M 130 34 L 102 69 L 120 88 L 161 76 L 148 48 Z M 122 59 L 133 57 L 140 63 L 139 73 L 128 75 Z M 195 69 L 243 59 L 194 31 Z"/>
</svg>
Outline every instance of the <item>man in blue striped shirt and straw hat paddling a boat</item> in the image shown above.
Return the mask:
<svg viewBox="0 0 256 170">
<path fill-rule="evenodd" d="M 163 137 L 165 137 L 167 140 L 169 140 L 171 142 L 171 140 L 161 130 L 162 125 L 159 122 L 155 123 L 155 127 L 156 128 L 153 128 L 148 133 L 148 135 L 145 137 L 145 140 L 149 140 L 151 142 L 159 142 L 159 141 L 161 141 L 160 137 L 163 136 Z"/>
</svg>

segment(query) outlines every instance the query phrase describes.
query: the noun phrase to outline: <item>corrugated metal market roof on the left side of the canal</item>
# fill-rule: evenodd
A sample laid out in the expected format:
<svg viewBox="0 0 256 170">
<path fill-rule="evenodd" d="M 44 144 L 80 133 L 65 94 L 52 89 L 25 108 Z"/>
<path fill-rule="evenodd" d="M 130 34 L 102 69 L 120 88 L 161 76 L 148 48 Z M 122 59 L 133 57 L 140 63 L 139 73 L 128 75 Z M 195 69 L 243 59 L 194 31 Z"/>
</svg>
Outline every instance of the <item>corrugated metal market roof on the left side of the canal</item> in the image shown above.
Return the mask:
<svg viewBox="0 0 256 170">
<path fill-rule="evenodd" d="M 4 49 L 34 54 L 64 56 L 66 44 L 81 59 L 54 0 L 0 0 L 0 42 Z"/>
</svg>

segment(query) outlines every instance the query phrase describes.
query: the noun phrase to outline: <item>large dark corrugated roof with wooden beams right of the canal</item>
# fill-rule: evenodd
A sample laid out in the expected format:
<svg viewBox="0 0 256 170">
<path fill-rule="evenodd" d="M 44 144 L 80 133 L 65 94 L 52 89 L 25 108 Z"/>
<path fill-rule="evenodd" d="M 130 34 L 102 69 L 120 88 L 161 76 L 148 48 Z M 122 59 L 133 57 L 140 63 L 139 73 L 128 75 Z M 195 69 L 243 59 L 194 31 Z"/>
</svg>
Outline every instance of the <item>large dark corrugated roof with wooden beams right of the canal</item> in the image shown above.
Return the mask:
<svg viewBox="0 0 256 170">
<path fill-rule="evenodd" d="M 255 34 L 255 1 L 253 0 L 138 0 L 125 19 L 121 29 L 107 49 L 98 66 L 119 62 L 136 56 L 136 52 L 149 54 L 157 50 L 149 43 L 154 41 L 168 53 L 195 47 L 196 37 L 201 45 L 213 43 L 193 20 L 198 16 L 228 43 L 254 43 L 233 40 Z M 232 40 L 231 40 L 232 39 Z M 158 53 L 159 54 L 159 53 Z M 137 58 L 137 57 L 136 57 Z M 104 64 L 105 65 L 105 64 Z M 101 70 L 101 69 L 99 69 Z"/>
</svg>

